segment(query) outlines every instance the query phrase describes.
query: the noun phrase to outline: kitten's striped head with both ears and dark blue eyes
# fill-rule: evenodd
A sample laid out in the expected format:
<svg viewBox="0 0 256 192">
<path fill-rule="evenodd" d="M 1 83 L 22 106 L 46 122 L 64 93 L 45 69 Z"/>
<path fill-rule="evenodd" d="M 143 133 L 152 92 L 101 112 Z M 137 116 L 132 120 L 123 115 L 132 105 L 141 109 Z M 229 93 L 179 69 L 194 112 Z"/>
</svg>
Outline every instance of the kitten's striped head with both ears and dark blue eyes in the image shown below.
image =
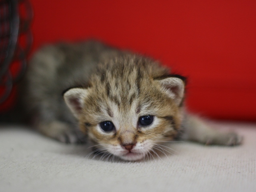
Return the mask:
<svg viewBox="0 0 256 192">
<path fill-rule="evenodd" d="M 138 56 L 99 65 L 89 86 L 65 92 L 80 128 L 99 148 L 123 160 L 140 160 L 180 128 L 184 78 Z"/>
</svg>

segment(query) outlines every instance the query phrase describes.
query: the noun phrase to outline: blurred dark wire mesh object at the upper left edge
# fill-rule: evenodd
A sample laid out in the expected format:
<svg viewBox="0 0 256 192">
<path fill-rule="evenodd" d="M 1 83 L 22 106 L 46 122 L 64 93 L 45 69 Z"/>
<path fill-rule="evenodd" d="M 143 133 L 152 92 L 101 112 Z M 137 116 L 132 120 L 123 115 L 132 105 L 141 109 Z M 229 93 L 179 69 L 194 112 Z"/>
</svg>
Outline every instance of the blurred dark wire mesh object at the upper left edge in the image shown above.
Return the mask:
<svg viewBox="0 0 256 192">
<path fill-rule="evenodd" d="M 28 0 L 0 0 L 0 105 L 13 98 L 13 86 L 25 72 L 32 45 L 32 17 Z"/>
</svg>

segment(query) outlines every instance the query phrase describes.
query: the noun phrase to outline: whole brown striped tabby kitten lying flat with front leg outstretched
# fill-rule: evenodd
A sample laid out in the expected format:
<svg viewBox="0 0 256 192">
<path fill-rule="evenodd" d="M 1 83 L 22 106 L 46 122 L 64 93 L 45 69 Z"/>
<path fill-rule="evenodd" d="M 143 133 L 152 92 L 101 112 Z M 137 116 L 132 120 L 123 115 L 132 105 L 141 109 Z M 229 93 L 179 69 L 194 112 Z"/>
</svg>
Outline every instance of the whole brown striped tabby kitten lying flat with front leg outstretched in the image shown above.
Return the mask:
<svg viewBox="0 0 256 192">
<path fill-rule="evenodd" d="M 186 78 L 157 62 L 100 42 L 43 47 L 26 74 L 24 107 L 42 134 L 92 140 L 123 160 L 140 160 L 158 141 L 181 138 L 236 145 L 184 111 Z M 63 98 L 62 98 L 63 96 Z"/>
</svg>

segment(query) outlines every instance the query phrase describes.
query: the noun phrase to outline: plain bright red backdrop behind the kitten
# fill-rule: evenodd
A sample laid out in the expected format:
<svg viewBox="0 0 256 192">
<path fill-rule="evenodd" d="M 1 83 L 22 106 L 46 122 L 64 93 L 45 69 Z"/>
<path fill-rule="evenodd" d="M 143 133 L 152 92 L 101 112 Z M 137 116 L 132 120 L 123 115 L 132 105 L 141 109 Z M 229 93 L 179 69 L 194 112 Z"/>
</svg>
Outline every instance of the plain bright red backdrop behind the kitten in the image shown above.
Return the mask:
<svg viewBox="0 0 256 192">
<path fill-rule="evenodd" d="M 187 105 L 212 118 L 256 120 L 255 0 L 31 0 L 32 52 L 96 38 L 188 76 Z"/>
</svg>

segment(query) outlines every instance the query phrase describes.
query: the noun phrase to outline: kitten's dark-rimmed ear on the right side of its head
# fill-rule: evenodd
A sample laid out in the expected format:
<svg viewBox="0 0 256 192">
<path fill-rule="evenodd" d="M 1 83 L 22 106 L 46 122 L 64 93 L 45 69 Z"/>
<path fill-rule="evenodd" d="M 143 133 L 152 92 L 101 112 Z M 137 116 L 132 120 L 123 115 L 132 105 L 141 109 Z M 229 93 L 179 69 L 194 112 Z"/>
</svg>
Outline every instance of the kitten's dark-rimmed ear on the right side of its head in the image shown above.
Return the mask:
<svg viewBox="0 0 256 192">
<path fill-rule="evenodd" d="M 180 75 L 169 75 L 157 78 L 156 81 L 162 86 L 170 98 L 174 99 L 176 104 L 180 106 L 184 97 L 186 78 Z"/>
</svg>

